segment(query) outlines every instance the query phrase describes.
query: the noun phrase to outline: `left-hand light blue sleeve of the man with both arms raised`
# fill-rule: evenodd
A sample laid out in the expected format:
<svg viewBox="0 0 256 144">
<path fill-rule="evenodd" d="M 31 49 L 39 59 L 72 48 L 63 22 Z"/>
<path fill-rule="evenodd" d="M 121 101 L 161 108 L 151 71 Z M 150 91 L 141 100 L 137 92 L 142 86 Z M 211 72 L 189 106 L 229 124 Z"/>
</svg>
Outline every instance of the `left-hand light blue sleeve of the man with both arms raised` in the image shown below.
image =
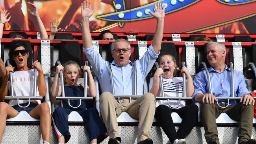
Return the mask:
<svg viewBox="0 0 256 144">
<path fill-rule="evenodd" d="M 106 61 L 102 59 L 100 54 L 97 52 L 94 44 L 91 48 L 83 48 L 83 51 L 86 55 L 86 59 L 88 59 L 90 62 L 96 76 L 100 76 L 104 65 L 106 65 Z"/>
</svg>

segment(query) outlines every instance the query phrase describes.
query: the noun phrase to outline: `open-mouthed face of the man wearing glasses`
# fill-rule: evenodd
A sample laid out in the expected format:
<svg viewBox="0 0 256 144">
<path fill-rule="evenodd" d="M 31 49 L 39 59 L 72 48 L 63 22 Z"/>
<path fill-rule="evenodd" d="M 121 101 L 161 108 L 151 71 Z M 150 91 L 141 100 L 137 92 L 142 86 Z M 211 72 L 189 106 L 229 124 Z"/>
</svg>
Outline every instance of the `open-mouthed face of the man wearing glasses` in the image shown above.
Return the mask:
<svg viewBox="0 0 256 144">
<path fill-rule="evenodd" d="M 128 49 L 128 44 L 124 41 L 120 41 L 114 44 L 114 50 L 111 52 L 112 57 L 114 58 L 114 61 L 119 66 L 125 66 L 129 63 L 129 57 L 131 55 L 131 51 L 128 50 L 127 52 L 116 52 L 119 49 Z"/>
</svg>

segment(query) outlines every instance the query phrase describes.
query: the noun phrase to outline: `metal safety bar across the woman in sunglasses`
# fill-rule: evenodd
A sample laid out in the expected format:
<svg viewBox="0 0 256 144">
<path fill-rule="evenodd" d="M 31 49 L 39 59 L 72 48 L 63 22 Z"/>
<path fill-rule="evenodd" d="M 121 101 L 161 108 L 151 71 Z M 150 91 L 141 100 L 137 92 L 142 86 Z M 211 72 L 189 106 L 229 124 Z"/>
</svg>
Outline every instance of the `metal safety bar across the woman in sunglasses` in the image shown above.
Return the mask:
<svg viewBox="0 0 256 144">
<path fill-rule="evenodd" d="M 6 61 L 7 65 L 10 65 L 9 59 Z M 13 94 L 13 73 L 9 72 L 10 81 L 10 93 L 11 96 L 5 96 L 6 100 L 17 100 L 17 105 L 22 108 L 26 108 L 30 105 L 30 100 L 43 100 L 43 96 L 36 96 L 37 92 L 37 69 L 34 68 L 34 81 L 33 81 L 33 96 L 14 96 Z M 19 100 L 28 100 L 28 105 L 21 106 Z"/>
</svg>

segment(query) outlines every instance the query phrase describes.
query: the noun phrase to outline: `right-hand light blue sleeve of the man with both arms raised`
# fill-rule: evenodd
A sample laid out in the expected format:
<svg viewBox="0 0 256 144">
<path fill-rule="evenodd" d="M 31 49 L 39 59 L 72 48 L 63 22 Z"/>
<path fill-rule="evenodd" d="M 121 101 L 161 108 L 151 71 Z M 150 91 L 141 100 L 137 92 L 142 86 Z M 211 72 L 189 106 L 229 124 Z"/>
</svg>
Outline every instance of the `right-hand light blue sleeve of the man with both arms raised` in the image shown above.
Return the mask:
<svg viewBox="0 0 256 144">
<path fill-rule="evenodd" d="M 143 74 L 145 74 L 145 76 L 148 74 L 148 72 L 153 67 L 159 54 L 156 54 L 156 52 L 154 51 L 153 46 L 151 44 L 148 47 L 148 50 L 143 55 L 143 57 L 141 57 L 141 59 L 138 60 L 139 64 L 141 65 L 141 71 L 143 72 Z"/>
</svg>

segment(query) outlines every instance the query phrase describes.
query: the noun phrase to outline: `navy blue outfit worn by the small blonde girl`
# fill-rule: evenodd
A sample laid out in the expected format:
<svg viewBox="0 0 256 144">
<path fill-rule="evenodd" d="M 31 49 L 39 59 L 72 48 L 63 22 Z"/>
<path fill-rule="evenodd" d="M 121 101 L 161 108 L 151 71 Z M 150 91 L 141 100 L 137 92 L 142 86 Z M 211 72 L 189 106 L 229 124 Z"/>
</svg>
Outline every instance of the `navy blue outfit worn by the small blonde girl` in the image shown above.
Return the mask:
<svg viewBox="0 0 256 144">
<path fill-rule="evenodd" d="M 65 86 L 65 96 L 83 96 L 83 86 Z M 70 100 L 70 105 L 77 107 L 79 100 Z M 62 101 L 62 107 L 57 107 L 52 113 L 52 121 L 54 124 L 54 132 L 57 138 L 62 135 L 65 143 L 70 139 L 68 116 L 72 111 L 78 112 L 82 118 L 84 125 L 89 133 L 90 141 L 98 138 L 98 142 L 107 137 L 106 126 L 102 123 L 96 108 L 86 109 L 86 102 L 82 101 L 80 107 L 73 109 L 69 107 L 68 100 Z"/>
</svg>

